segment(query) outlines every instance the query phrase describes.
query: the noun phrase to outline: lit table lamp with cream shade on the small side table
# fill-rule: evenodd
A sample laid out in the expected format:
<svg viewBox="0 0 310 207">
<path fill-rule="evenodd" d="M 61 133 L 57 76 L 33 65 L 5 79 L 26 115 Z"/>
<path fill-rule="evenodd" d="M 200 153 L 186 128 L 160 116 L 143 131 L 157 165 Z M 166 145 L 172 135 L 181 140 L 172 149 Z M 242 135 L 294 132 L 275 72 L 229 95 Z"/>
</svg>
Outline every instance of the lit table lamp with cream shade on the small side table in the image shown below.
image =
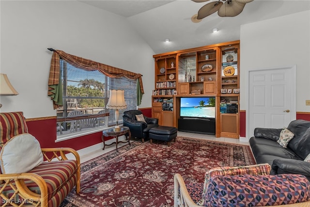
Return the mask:
<svg viewBox="0 0 310 207">
<path fill-rule="evenodd" d="M 110 90 L 109 101 L 106 108 L 115 109 L 116 126 L 114 127 L 114 131 L 120 131 L 121 128 L 118 126 L 120 112 L 118 110 L 127 108 L 124 98 L 124 90 Z"/>
</svg>

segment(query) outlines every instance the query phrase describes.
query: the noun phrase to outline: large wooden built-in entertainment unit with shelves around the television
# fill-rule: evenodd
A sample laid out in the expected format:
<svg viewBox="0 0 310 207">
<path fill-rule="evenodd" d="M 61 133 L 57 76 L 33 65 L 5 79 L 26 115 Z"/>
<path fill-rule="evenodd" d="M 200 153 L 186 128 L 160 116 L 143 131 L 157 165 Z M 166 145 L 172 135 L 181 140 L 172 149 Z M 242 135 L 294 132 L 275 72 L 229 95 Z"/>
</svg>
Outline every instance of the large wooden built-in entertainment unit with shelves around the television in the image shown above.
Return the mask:
<svg viewBox="0 0 310 207">
<path fill-rule="evenodd" d="M 239 113 L 220 113 L 222 99 L 237 102 L 238 111 L 240 111 L 240 94 L 233 94 L 233 89 L 240 88 L 239 44 L 240 41 L 232 41 L 153 55 L 155 58 L 155 90 L 173 91 L 173 95 L 152 96 L 152 103 L 156 98 L 172 98 L 173 100 L 173 111 L 162 111 L 159 110 L 161 105 L 153 106 L 152 104 L 152 115 L 160 119 L 159 123 L 169 125 L 172 122 L 173 127 L 178 127 L 181 97 L 215 97 L 216 137 L 239 138 Z M 229 55 L 233 57 L 228 57 Z M 227 62 L 227 60 L 233 61 Z M 204 64 L 212 64 L 212 70 L 203 72 Z M 233 76 L 223 75 L 223 70 L 227 66 L 234 67 Z M 160 73 L 160 68 L 165 68 L 165 72 Z M 169 80 L 171 74 L 175 77 L 173 80 Z M 195 81 L 189 81 L 190 79 Z M 167 85 L 175 82 L 175 87 L 158 87 L 165 85 L 165 82 Z M 232 93 L 221 94 L 221 89 L 227 89 Z M 191 91 L 196 90 L 200 90 L 201 94 L 192 95 Z"/>
</svg>

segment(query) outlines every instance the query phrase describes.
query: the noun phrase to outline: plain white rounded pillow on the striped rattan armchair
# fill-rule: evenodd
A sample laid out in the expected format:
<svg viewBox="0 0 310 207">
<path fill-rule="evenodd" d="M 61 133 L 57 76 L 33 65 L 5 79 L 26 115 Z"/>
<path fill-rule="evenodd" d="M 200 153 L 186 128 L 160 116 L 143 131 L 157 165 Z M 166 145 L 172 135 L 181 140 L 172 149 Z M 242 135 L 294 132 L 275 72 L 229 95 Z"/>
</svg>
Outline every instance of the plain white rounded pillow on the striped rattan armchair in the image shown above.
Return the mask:
<svg viewBox="0 0 310 207">
<path fill-rule="evenodd" d="M 43 162 L 40 143 L 31 134 L 12 137 L 0 151 L 3 174 L 25 173 Z"/>
</svg>

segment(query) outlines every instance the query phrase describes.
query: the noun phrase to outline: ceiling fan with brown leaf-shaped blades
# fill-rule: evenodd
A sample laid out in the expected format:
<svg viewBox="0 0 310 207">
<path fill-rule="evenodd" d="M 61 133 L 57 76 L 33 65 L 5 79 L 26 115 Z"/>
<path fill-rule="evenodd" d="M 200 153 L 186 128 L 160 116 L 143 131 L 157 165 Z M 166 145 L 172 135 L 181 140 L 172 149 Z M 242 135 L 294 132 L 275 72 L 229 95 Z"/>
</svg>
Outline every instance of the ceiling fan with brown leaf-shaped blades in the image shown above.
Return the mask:
<svg viewBox="0 0 310 207">
<path fill-rule="evenodd" d="M 194 2 L 205 2 L 208 0 L 192 0 Z M 205 4 L 200 8 L 197 15 L 197 21 L 203 19 L 206 16 L 212 15 L 217 12 L 218 16 L 237 16 L 239 15 L 245 5 L 253 0 L 218 0 Z M 193 17 L 194 17 L 193 16 Z"/>
</svg>

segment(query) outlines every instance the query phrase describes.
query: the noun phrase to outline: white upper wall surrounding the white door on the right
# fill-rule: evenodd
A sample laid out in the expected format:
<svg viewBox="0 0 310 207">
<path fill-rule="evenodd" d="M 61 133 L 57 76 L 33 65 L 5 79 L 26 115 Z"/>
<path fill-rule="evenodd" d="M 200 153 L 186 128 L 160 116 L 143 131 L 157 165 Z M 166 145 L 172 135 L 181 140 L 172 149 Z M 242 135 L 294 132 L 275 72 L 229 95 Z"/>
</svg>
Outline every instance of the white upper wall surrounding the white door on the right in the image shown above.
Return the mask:
<svg viewBox="0 0 310 207">
<path fill-rule="evenodd" d="M 240 53 L 241 110 L 248 70 L 296 65 L 296 111 L 310 111 L 310 10 L 242 25 Z"/>
</svg>

